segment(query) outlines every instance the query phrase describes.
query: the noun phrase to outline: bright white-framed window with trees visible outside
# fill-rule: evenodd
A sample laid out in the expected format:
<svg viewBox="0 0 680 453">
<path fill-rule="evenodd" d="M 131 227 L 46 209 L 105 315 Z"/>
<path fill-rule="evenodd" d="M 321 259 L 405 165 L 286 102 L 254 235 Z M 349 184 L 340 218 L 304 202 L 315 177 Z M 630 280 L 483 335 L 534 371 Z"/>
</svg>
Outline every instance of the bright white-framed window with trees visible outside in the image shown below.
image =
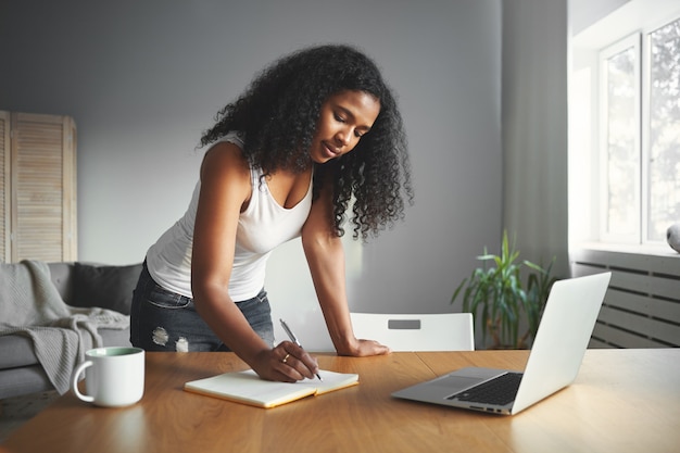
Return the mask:
<svg viewBox="0 0 680 453">
<path fill-rule="evenodd" d="M 591 240 L 662 243 L 680 222 L 680 18 L 660 24 L 601 46 L 590 64 L 599 155 Z"/>
</svg>

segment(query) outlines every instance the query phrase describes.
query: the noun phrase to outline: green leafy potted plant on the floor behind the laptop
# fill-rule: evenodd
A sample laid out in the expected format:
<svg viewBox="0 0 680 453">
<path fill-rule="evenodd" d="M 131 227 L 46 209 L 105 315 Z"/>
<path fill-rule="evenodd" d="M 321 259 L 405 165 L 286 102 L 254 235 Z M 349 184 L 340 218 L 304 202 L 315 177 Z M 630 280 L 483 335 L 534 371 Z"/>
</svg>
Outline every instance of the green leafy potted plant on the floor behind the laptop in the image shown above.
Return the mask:
<svg viewBox="0 0 680 453">
<path fill-rule="evenodd" d="M 491 336 L 491 349 L 527 349 L 529 338 L 538 330 L 550 288 L 556 280 L 551 277 L 555 259 L 545 268 L 529 261 L 518 261 L 519 252 L 515 250 L 514 241 L 508 242 L 507 231 L 503 231 L 500 255 L 488 253 L 484 247 L 484 254 L 477 259 L 483 265 L 463 279 L 451 303 L 463 295 L 463 311 L 471 313 L 475 323 L 481 326 L 484 344 L 487 336 Z M 526 284 L 522 284 L 522 270 L 526 270 Z M 528 328 L 520 332 L 522 313 Z"/>
</svg>

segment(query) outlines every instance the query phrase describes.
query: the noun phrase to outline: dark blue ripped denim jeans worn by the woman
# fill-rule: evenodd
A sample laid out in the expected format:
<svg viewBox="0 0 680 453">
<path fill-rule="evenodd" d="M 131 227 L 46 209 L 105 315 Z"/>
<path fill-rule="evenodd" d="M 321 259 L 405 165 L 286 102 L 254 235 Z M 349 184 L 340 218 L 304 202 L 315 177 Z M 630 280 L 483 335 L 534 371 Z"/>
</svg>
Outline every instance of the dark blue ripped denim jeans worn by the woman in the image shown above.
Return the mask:
<svg viewBox="0 0 680 453">
<path fill-rule="evenodd" d="M 255 332 L 274 345 L 267 293 L 236 302 Z M 229 351 L 198 314 L 193 300 L 158 285 L 144 263 L 133 294 L 130 342 L 146 351 Z"/>
</svg>

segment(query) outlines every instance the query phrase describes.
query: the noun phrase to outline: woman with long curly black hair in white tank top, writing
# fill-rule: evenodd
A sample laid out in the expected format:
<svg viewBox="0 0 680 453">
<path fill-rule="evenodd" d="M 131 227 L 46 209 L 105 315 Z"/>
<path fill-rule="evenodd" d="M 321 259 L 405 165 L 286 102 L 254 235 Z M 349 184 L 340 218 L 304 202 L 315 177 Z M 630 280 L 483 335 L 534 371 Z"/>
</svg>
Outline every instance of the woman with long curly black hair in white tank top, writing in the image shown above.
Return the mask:
<svg viewBox="0 0 680 453">
<path fill-rule="evenodd" d="M 403 216 L 412 201 L 401 115 L 380 72 L 348 46 L 288 55 L 219 111 L 189 209 L 153 244 L 135 290 L 133 344 L 149 351 L 234 351 L 262 378 L 313 378 L 316 361 L 274 348 L 264 286 L 269 252 L 302 237 L 333 345 L 386 354 L 354 337 L 340 237 Z M 352 202 L 352 203 L 350 203 Z"/>
</svg>

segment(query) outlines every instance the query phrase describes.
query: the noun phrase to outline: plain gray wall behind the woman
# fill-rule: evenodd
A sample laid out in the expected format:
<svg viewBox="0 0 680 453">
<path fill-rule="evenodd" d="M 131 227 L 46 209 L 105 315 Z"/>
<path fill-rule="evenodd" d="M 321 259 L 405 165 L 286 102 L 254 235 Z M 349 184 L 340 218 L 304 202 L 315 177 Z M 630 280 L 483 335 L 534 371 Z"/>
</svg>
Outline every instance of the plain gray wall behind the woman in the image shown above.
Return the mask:
<svg viewBox="0 0 680 453">
<path fill-rule="evenodd" d="M 215 112 L 272 60 L 331 41 L 363 48 L 399 93 L 416 189 L 405 223 L 347 242 L 351 307 L 452 311 L 499 241 L 500 0 L 2 0 L 0 41 L 0 109 L 76 119 L 83 261 L 141 261 L 189 201 Z M 275 316 L 329 344 L 299 241 L 267 287 Z"/>
</svg>

